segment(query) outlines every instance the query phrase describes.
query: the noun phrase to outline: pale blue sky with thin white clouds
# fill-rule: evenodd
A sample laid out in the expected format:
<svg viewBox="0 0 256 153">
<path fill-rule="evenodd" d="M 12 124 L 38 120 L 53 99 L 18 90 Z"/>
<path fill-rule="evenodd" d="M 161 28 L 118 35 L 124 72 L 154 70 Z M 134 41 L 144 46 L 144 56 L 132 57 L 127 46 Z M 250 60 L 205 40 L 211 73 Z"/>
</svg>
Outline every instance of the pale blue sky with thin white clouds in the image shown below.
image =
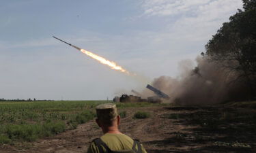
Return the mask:
<svg viewBox="0 0 256 153">
<path fill-rule="evenodd" d="M 177 77 L 242 0 L 2 0 L 0 98 L 104 100 Z M 52 36 L 103 56 L 98 63 Z"/>
</svg>

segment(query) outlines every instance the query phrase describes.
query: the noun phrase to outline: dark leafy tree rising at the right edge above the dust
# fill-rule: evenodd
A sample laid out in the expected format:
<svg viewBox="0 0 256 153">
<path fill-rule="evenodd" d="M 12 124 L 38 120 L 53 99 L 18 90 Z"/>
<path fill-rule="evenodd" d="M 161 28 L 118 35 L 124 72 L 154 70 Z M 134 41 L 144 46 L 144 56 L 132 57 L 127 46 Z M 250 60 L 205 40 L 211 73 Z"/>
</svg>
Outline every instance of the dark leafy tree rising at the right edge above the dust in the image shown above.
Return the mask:
<svg viewBox="0 0 256 153">
<path fill-rule="evenodd" d="M 255 98 L 256 89 L 256 0 L 243 0 L 244 10 L 223 23 L 216 35 L 205 45 L 206 54 L 238 73 Z"/>
</svg>

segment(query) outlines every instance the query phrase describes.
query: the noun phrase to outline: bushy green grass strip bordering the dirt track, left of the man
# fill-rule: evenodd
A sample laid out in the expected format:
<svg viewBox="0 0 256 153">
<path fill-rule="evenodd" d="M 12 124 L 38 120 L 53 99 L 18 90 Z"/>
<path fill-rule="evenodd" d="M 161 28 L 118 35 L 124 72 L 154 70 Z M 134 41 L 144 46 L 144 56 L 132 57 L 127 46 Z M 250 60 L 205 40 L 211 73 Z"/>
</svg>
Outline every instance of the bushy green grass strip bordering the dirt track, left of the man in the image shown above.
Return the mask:
<svg viewBox="0 0 256 153">
<path fill-rule="evenodd" d="M 0 126 L 0 143 L 11 143 L 12 141 L 35 141 L 35 139 L 57 135 L 67 129 L 75 129 L 78 124 L 82 124 L 94 118 L 94 113 L 84 111 L 76 114 L 71 119 L 66 120 L 46 120 L 45 122 L 35 122 L 34 124 L 23 122 L 20 124 L 3 124 Z"/>
</svg>

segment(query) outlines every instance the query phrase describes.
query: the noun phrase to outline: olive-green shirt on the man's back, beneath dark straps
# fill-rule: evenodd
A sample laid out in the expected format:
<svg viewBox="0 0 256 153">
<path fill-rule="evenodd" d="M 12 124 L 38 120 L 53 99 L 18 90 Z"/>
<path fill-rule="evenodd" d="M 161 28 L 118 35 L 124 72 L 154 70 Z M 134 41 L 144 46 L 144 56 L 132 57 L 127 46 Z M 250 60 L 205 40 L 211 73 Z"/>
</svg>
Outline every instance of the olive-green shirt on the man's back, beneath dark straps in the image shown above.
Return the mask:
<svg viewBox="0 0 256 153">
<path fill-rule="evenodd" d="M 133 146 L 133 139 L 124 134 L 106 133 L 100 137 L 104 143 L 113 151 L 117 150 L 131 150 Z M 104 149 L 104 148 L 103 148 Z M 142 153 L 147 153 L 141 145 Z M 98 147 L 93 142 L 89 146 L 87 153 L 100 153 Z"/>
</svg>

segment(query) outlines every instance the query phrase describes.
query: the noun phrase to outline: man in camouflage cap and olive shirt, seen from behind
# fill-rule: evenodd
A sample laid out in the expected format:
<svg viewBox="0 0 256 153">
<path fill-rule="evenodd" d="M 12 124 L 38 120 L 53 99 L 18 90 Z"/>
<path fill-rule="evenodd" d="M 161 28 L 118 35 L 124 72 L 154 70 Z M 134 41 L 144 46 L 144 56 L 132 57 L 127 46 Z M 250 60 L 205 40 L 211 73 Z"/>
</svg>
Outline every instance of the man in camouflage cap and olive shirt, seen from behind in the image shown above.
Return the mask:
<svg viewBox="0 0 256 153">
<path fill-rule="evenodd" d="M 104 103 L 96 107 L 96 122 L 104 135 L 94 139 L 87 153 L 147 153 L 136 139 L 131 139 L 118 129 L 120 116 L 113 103 Z"/>
</svg>

